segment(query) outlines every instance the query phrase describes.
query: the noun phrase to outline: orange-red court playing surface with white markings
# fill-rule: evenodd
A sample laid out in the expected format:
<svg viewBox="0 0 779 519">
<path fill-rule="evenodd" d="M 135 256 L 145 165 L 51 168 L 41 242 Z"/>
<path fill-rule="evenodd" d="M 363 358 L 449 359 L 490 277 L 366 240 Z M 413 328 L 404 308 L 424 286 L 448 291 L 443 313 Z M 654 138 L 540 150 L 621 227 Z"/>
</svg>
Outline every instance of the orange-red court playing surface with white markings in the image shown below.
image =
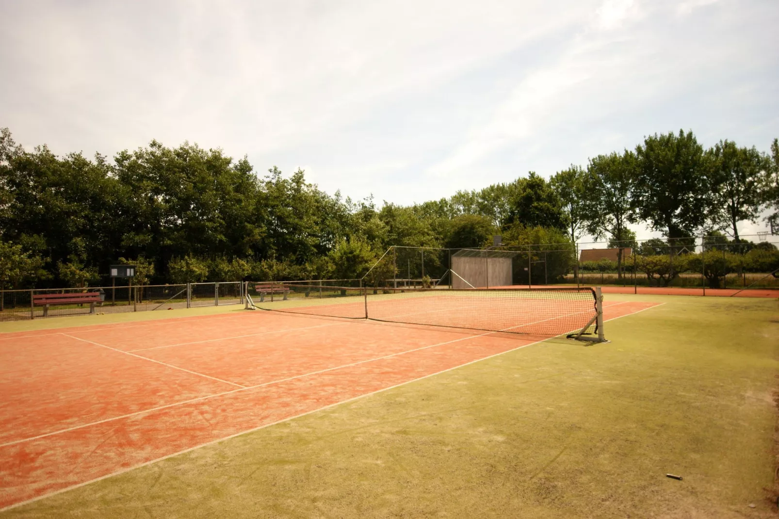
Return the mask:
<svg viewBox="0 0 779 519">
<path fill-rule="evenodd" d="M 263 311 L 2 334 L 0 510 L 545 338 L 506 336 Z"/>
</svg>

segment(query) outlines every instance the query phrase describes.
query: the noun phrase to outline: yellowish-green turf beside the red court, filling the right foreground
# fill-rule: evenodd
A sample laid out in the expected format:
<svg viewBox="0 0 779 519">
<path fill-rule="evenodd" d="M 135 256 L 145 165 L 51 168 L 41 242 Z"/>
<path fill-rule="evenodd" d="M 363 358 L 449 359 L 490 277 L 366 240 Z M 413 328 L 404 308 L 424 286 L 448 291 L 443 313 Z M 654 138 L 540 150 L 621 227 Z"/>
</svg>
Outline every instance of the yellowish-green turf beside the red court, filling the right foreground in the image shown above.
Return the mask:
<svg viewBox="0 0 779 519">
<path fill-rule="evenodd" d="M 775 517 L 777 301 L 619 299 L 666 304 L 0 517 Z"/>
</svg>

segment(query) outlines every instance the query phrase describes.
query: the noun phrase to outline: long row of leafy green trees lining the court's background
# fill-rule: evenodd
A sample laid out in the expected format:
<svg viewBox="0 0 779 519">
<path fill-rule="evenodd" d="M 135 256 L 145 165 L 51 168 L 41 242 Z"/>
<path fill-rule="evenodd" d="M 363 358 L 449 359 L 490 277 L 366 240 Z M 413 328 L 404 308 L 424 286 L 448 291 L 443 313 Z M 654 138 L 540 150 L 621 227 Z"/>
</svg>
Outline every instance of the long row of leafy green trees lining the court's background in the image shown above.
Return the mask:
<svg viewBox="0 0 779 519">
<path fill-rule="evenodd" d="M 668 238 L 719 229 L 743 241 L 738 222 L 766 208 L 779 227 L 776 139 L 770 150 L 729 140 L 704 150 L 693 132 L 655 134 L 549 181 L 530 171 L 404 206 L 329 194 L 300 169 L 258 174 L 246 157 L 194 143 L 57 156 L 0 129 L 0 289 L 96 284 L 118 261 L 143 264 L 150 283 L 359 277 L 390 245 L 481 247 L 502 234 L 573 249 L 587 231 L 635 246 L 629 222 Z M 668 254 L 664 244 L 644 253 Z M 436 261 L 425 253 L 425 265 Z"/>
</svg>

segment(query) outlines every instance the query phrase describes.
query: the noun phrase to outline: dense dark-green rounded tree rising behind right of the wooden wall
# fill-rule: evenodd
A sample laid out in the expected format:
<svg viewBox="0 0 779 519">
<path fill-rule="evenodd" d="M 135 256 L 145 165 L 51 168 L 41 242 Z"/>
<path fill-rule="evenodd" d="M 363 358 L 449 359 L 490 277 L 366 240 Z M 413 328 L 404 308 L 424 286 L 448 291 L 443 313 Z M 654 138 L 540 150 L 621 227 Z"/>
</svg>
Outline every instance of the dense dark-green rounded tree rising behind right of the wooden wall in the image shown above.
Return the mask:
<svg viewBox="0 0 779 519">
<path fill-rule="evenodd" d="M 523 224 L 527 227 L 556 228 L 565 231 L 567 221 L 562 202 L 552 186 L 544 178 L 530 171 L 527 178 L 516 181 L 516 192 L 511 202 L 504 226 Z"/>
</svg>

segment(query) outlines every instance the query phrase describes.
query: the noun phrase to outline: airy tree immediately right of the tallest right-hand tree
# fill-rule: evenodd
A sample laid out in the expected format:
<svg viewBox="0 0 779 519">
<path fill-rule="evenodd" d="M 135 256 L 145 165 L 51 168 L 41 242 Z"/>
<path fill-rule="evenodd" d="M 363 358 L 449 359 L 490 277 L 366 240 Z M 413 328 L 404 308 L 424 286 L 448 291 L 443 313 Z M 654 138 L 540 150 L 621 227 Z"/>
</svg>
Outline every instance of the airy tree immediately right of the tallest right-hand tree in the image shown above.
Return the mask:
<svg viewBox="0 0 779 519">
<path fill-rule="evenodd" d="M 710 223 L 713 228 L 728 229 L 740 243 L 738 222 L 755 223 L 760 216 L 766 158 L 755 147 L 739 148 L 727 139 L 708 150 L 706 157 L 712 188 Z"/>
</svg>

